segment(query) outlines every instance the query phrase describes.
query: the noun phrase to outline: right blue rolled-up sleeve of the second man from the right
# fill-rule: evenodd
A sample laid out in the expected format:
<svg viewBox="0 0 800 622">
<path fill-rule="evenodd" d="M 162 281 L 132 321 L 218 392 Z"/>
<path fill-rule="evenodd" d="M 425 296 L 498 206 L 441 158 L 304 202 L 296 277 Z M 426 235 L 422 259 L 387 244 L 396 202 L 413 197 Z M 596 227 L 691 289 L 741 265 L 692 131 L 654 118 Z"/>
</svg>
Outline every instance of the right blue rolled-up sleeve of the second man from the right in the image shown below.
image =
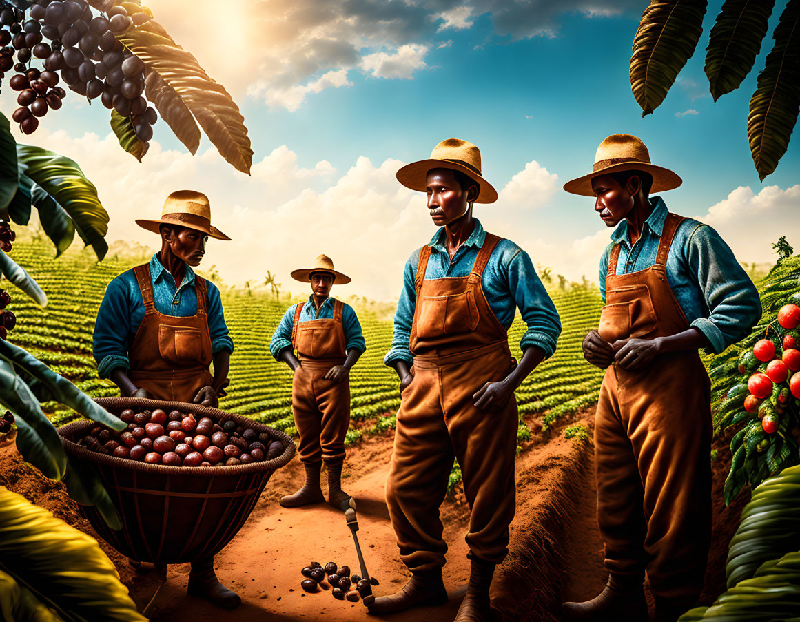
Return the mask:
<svg viewBox="0 0 800 622">
<path fill-rule="evenodd" d="M 506 273 L 510 293 L 528 327 L 519 344 L 522 352 L 535 345 L 545 358 L 552 357 L 561 334 L 561 319 L 528 253 L 522 249 L 514 253 Z"/>
</svg>

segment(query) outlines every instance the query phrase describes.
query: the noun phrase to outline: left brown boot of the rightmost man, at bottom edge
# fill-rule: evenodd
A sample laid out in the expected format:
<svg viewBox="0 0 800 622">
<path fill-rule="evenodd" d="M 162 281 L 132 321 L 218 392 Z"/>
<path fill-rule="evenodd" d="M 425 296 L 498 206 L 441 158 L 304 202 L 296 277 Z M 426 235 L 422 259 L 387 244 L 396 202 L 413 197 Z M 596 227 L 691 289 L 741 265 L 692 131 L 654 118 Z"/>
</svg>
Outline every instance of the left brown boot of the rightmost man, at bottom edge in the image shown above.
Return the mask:
<svg viewBox="0 0 800 622">
<path fill-rule="evenodd" d="M 583 603 L 564 603 L 562 612 L 567 620 L 618 622 L 619 620 L 649 620 L 642 576 L 610 575 L 606 588 L 592 600 Z"/>
</svg>

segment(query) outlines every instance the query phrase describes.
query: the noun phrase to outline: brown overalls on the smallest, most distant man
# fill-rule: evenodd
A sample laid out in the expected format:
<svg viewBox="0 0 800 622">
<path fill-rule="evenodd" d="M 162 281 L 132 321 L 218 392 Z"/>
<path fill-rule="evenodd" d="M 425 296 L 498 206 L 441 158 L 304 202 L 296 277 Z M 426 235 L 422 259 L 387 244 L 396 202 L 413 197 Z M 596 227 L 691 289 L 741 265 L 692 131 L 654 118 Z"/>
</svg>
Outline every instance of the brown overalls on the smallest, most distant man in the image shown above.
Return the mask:
<svg viewBox="0 0 800 622">
<path fill-rule="evenodd" d="M 325 379 L 347 357 L 342 301 L 334 300 L 334 317 L 300 323 L 303 304 L 294 313 L 292 347 L 300 367 L 292 380 L 292 413 L 300 435 L 298 453 L 306 463 L 345 459 L 345 435 L 350 425 L 350 381 Z"/>
</svg>

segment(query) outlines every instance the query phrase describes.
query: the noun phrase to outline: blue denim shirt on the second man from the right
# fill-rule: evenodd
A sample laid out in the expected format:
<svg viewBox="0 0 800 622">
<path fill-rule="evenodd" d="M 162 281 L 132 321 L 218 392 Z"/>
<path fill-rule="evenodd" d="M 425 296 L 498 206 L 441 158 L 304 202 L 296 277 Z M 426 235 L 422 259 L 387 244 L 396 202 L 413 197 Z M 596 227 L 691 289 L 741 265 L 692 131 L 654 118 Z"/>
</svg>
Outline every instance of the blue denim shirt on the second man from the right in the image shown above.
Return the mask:
<svg viewBox="0 0 800 622">
<path fill-rule="evenodd" d="M 429 280 L 466 277 L 472 270 L 478 251 L 486 239 L 486 231 L 475 218 L 473 232 L 456 251 L 453 261 L 450 261 L 444 229 L 444 227 L 438 229 L 428 243 L 430 259 L 425 277 Z M 409 364 L 414 362 L 414 355 L 408 349 L 408 342 L 411 337 L 411 323 L 414 321 L 414 309 L 417 305 L 414 277 L 421 250 L 417 249 L 411 253 L 403 269 L 403 288 L 397 313 L 394 314 L 392 347 L 384 359 L 386 365 L 391 366 L 398 360 L 407 361 Z M 481 286 L 489 308 L 506 330 L 514 321 L 514 314 L 519 307 L 522 321 L 528 326 L 520 342 L 523 351 L 535 345 L 545 353 L 545 357 L 553 356 L 555 343 L 561 334 L 561 321 L 528 253 L 510 240 L 501 240 L 489 257 L 489 262 L 483 271 Z"/>
</svg>

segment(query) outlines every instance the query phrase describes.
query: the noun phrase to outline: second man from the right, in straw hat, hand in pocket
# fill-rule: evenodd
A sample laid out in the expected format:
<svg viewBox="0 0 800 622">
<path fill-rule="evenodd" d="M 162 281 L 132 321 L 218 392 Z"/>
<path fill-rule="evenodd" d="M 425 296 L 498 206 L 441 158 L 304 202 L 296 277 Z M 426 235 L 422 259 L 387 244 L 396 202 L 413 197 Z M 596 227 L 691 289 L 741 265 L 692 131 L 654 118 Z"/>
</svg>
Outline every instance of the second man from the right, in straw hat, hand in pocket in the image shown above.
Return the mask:
<svg viewBox="0 0 800 622">
<path fill-rule="evenodd" d="M 489 588 L 508 552 L 515 510 L 514 389 L 554 353 L 561 323 L 528 254 L 487 233 L 472 215 L 473 203 L 498 197 L 482 175 L 478 147 L 450 138 L 397 177 L 427 193 L 439 229 L 406 262 L 385 359 L 398 373 L 401 395 L 386 504 L 411 578 L 376 599 L 370 612 L 447 600 L 438 508 L 456 458 L 471 510 L 470 583 L 456 620 L 490 620 Z M 507 335 L 517 309 L 527 325 L 519 365 Z"/>
</svg>

